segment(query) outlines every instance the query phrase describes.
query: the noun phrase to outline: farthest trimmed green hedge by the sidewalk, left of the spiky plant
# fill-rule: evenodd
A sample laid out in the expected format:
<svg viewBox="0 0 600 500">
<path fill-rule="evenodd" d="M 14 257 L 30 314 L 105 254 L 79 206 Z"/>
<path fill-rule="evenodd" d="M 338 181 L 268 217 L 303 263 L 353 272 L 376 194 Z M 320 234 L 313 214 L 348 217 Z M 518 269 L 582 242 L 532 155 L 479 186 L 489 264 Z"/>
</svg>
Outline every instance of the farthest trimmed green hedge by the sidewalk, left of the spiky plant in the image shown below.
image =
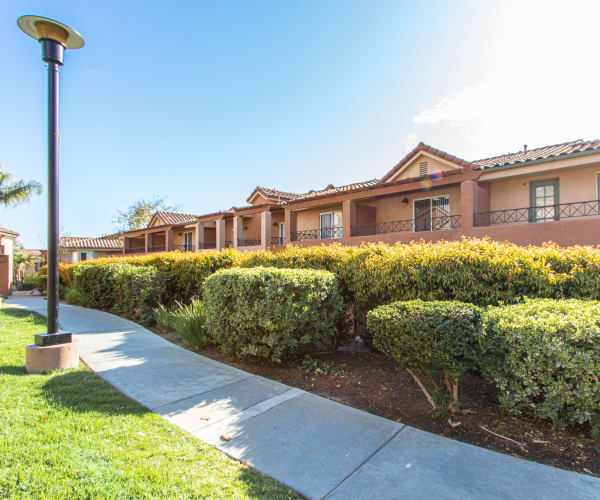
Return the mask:
<svg viewBox="0 0 600 500">
<path fill-rule="evenodd" d="M 154 323 L 165 276 L 152 266 L 127 263 L 76 266 L 74 286 L 88 307 L 108 309 L 142 324 Z M 83 304 L 81 304 L 83 305 Z"/>
</svg>

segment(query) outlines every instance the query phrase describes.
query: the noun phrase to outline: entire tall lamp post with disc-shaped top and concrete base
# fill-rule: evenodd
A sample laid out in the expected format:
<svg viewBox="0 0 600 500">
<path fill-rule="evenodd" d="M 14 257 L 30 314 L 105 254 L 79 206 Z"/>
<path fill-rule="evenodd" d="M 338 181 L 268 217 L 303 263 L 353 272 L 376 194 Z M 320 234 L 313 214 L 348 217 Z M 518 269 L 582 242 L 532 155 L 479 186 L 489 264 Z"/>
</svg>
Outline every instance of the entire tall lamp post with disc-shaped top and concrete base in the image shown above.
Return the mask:
<svg viewBox="0 0 600 500">
<path fill-rule="evenodd" d="M 21 16 L 17 24 L 25 34 L 40 42 L 42 59 L 48 64 L 48 332 L 35 336 L 37 346 L 47 347 L 71 343 L 70 333 L 58 333 L 58 70 L 63 65 L 64 50 L 79 49 L 84 41 L 74 29 L 45 17 Z M 28 348 L 27 369 L 39 371 L 29 370 L 29 358 Z"/>
</svg>

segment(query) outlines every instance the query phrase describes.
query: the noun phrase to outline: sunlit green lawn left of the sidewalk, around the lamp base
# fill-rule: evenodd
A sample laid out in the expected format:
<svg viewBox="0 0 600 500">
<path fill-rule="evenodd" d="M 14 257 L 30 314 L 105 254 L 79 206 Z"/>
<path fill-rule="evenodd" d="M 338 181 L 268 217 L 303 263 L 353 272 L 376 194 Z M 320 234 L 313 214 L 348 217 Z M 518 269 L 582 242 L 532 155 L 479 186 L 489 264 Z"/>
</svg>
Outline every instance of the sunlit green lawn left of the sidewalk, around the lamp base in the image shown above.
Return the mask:
<svg viewBox="0 0 600 500">
<path fill-rule="evenodd" d="M 0 310 L 1 498 L 299 498 L 113 389 L 85 365 L 25 372 L 45 319 Z"/>
</svg>

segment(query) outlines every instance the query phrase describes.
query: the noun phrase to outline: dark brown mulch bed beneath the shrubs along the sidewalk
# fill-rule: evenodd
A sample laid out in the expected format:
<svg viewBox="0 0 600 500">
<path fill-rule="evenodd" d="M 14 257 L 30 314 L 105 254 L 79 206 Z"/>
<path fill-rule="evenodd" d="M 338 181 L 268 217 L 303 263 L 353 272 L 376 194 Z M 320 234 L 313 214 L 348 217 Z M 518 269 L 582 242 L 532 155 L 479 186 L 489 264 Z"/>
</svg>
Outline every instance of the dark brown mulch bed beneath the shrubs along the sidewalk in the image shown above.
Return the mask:
<svg viewBox="0 0 600 500">
<path fill-rule="evenodd" d="M 475 375 L 466 375 L 460 386 L 461 407 L 474 413 L 453 417 L 461 425 L 452 428 L 447 417 L 432 416 L 431 406 L 411 376 L 380 354 L 339 351 L 313 355 L 329 372 L 321 373 L 304 368 L 302 359 L 281 366 L 232 361 L 215 347 L 197 349 L 174 332 L 153 331 L 203 356 L 390 420 L 501 453 L 600 476 L 600 443 L 591 440 L 588 427 L 558 431 L 548 422 L 528 415 L 505 415 L 498 407 L 495 388 Z M 494 436 L 482 427 L 521 444 Z"/>
</svg>

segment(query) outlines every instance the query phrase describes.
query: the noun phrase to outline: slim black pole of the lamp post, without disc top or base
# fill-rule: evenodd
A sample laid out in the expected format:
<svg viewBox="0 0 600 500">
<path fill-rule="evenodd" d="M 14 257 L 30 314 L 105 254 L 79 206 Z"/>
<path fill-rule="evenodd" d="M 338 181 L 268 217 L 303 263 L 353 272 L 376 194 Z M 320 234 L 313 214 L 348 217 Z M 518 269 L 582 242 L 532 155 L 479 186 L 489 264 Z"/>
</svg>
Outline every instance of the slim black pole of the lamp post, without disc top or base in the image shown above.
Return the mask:
<svg viewBox="0 0 600 500">
<path fill-rule="evenodd" d="M 40 43 L 48 63 L 48 333 L 58 333 L 58 69 L 64 47 L 49 38 Z"/>
</svg>

